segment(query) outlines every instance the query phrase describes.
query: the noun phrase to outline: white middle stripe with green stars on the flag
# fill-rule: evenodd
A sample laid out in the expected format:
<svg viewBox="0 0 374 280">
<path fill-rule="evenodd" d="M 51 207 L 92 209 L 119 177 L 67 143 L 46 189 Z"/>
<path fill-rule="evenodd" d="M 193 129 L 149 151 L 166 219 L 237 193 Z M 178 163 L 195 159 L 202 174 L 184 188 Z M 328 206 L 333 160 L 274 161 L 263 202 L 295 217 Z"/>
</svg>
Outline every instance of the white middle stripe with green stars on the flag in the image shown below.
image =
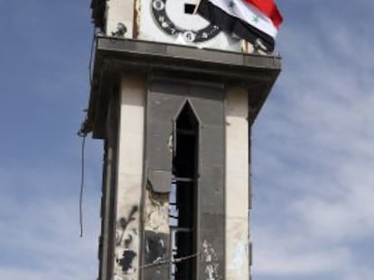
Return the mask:
<svg viewBox="0 0 374 280">
<path fill-rule="evenodd" d="M 267 35 L 276 38 L 278 30 L 271 19 L 261 13 L 255 6 L 247 4 L 242 0 L 208 0 L 211 4 L 218 6 L 225 13 L 230 14 L 254 27 Z"/>
</svg>

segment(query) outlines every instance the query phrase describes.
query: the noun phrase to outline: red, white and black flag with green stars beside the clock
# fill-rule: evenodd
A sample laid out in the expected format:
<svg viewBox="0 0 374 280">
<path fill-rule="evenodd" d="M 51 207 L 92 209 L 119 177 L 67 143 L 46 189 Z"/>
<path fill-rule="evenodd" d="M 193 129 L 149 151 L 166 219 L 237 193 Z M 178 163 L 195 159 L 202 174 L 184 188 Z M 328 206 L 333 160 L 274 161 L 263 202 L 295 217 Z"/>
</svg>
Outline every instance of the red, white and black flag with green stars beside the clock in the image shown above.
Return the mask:
<svg viewBox="0 0 374 280">
<path fill-rule="evenodd" d="M 224 32 L 254 44 L 258 39 L 271 52 L 276 44 L 276 33 L 283 22 L 273 0 L 201 0 L 200 14 Z"/>
</svg>

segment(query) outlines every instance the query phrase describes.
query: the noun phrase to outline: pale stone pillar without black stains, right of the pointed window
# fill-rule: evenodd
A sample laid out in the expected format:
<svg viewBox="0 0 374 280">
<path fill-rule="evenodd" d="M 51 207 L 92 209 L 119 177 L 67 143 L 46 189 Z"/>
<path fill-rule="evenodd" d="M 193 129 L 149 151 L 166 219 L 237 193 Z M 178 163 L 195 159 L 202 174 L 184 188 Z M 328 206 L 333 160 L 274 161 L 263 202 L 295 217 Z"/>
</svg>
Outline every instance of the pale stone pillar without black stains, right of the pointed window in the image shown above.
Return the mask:
<svg viewBox="0 0 374 280">
<path fill-rule="evenodd" d="M 248 92 L 226 95 L 226 280 L 249 278 Z"/>
</svg>

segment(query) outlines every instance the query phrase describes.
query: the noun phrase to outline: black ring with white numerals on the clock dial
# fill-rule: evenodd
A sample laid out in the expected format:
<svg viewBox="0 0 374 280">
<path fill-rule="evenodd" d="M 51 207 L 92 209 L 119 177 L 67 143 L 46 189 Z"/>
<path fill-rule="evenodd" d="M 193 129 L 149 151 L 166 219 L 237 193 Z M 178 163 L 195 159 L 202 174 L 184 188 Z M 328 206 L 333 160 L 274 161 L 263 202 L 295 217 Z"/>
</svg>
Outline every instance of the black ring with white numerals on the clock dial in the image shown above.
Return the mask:
<svg viewBox="0 0 374 280">
<path fill-rule="evenodd" d="M 179 27 L 177 24 L 173 23 L 168 16 L 166 12 L 166 2 L 167 0 L 152 0 L 151 2 L 154 21 L 165 33 L 171 36 L 182 34 L 184 41 L 192 43 L 209 41 L 220 33 L 220 29 L 213 24 L 208 24 L 200 30 L 188 30 Z"/>
</svg>

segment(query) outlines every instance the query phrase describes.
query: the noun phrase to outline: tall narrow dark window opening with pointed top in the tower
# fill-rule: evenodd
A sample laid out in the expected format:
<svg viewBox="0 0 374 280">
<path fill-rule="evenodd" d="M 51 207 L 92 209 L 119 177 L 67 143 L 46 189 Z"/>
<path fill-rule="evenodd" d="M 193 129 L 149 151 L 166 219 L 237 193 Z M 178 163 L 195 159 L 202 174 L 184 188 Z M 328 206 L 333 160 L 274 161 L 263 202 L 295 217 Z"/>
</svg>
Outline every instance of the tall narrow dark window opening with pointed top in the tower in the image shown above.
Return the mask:
<svg viewBox="0 0 374 280">
<path fill-rule="evenodd" d="M 196 116 L 187 103 L 176 121 L 174 133 L 173 183 L 169 199 L 172 280 L 196 279 L 198 128 Z"/>
</svg>

